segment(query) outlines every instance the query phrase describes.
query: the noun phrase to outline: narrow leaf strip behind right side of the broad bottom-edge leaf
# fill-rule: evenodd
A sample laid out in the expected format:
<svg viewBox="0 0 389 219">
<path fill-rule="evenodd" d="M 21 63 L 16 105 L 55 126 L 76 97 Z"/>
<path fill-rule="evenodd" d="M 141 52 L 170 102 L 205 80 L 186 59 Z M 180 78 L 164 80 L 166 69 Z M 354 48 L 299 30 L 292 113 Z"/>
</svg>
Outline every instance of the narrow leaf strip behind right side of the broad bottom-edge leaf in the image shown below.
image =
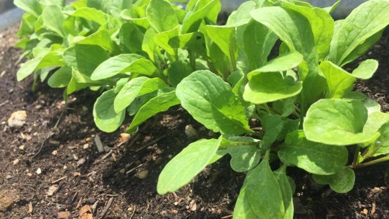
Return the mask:
<svg viewBox="0 0 389 219">
<path fill-rule="evenodd" d="M 286 176 L 286 166 L 282 166 L 280 169 L 274 171 L 274 176 L 280 186 L 282 193 L 282 200 L 285 208 L 285 215 L 283 219 L 293 219 L 294 207 L 293 207 L 293 191 L 289 182 L 288 176 Z"/>
</svg>

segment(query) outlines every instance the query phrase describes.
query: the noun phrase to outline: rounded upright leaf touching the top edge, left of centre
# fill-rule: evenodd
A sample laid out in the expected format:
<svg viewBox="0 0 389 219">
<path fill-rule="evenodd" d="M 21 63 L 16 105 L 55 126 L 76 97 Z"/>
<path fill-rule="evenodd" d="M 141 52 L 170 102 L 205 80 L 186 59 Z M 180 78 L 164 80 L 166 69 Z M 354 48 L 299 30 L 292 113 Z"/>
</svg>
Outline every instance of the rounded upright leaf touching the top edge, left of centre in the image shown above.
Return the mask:
<svg viewBox="0 0 389 219">
<path fill-rule="evenodd" d="M 157 32 L 169 31 L 179 25 L 176 12 L 167 0 L 151 0 L 146 15 L 150 25 Z"/>
</svg>

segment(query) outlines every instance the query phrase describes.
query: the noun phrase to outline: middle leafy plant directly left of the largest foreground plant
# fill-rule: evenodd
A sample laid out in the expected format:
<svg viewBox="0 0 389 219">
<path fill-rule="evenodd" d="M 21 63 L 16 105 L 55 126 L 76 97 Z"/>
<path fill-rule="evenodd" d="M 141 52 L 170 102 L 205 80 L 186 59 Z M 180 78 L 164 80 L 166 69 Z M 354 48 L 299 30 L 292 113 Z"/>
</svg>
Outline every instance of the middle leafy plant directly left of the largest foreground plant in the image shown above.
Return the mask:
<svg viewBox="0 0 389 219">
<path fill-rule="evenodd" d="M 206 47 L 198 29 L 215 24 L 219 10 L 219 0 L 191 0 L 186 10 L 168 0 L 137 1 L 131 10 L 123 10 L 121 16 L 130 21 L 127 25 L 137 25 L 142 32 L 140 43 L 130 48 L 141 51 L 112 56 L 91 74 L 96 81 L 121 78 L 120 85 L 97 99 L 96 125 L 113 132 L 128 112 L 135 115 L 128 132 L 135 132 L 148 118 L 180 104 L 174 87 L 194 70 L 208 69 L 199 59 L 206 55 Z"/>
</svg>

